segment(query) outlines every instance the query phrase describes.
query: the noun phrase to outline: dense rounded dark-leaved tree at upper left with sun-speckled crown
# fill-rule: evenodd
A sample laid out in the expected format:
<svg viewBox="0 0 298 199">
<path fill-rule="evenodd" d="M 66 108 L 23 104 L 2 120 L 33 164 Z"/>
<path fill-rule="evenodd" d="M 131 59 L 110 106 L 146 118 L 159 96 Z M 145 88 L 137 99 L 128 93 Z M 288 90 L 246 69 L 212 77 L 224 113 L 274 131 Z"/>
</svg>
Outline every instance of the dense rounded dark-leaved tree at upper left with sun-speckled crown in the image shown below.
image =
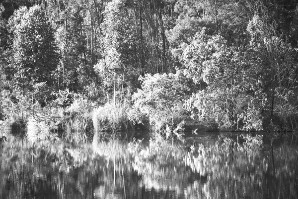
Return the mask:
<svg viewBox="0 0 298 199">
<path fill-rule="evenodd" d="M 56 85 L 53 72 L 59 55 L 45 12 L 38 5 L 20 7 L 10 17 L 9 27 L 13 34 L 10 59 L 13 84 L 29 90 L 35 83 Z"/>
</svg>

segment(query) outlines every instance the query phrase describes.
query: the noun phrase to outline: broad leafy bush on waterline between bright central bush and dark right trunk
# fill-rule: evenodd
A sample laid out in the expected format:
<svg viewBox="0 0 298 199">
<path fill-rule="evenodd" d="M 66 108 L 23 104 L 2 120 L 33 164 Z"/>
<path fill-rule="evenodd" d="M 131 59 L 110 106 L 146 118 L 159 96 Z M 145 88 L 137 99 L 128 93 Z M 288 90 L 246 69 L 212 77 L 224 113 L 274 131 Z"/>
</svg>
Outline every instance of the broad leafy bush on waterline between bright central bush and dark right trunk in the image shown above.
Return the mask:
<svg viewBox="0 0 298 199">
<path fill-rule="evenodd" d="M 206 89 L 193 94 L 185 106 L 193 119 L 216 125 L 220 130 L 262 130 L 262 101 L 237 93 Z"/>
</svg>

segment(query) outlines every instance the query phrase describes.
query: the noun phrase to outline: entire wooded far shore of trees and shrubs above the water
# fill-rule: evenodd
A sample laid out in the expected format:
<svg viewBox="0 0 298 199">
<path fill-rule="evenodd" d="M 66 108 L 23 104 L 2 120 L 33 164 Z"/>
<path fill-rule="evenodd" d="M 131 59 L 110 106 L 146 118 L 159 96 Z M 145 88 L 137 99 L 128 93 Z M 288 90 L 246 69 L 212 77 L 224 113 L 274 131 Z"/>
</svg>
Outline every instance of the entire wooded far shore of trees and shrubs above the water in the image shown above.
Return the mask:
<svg viewBox="0 0 298 199">
<path fill-rule="evenodd" d="M 297 131 L 297 0 L 0 3 L 2 121 L 79 140 Z"/>
</svg>

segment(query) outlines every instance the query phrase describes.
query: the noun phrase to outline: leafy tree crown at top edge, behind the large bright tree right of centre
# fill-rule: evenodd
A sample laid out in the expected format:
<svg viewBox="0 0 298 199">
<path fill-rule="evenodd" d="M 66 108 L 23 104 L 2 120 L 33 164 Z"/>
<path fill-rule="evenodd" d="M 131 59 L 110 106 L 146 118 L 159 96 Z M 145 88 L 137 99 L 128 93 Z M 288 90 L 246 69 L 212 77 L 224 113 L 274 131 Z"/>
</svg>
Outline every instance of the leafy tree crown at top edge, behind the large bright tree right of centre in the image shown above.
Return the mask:
<svg viewBox="0 0 298 199">
<path fill-rule="evenodd" d="M 174 13 L 175 25 L 167 31 L 175 64 L 181 65 L 183 51 L 192 42 L 195 34 L 205 28 L 205 34 L 222 31 L 224 0 L 177 0 Z"/>
</svg>

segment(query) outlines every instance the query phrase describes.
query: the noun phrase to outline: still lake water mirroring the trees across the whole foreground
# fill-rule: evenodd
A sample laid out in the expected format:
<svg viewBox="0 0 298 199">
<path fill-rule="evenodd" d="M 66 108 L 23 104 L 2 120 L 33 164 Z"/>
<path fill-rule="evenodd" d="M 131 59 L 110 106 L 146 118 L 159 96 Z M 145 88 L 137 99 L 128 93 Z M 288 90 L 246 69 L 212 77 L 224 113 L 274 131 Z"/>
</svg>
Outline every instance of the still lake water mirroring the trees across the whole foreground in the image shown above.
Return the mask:
<svg viewBox="0 0 298 199">
<path fill-rule="evenodd" d="M 173 145 L 8 141 L 0 198 L 297 199 L 298 147 L 208 135 Z"/>
</svg>

